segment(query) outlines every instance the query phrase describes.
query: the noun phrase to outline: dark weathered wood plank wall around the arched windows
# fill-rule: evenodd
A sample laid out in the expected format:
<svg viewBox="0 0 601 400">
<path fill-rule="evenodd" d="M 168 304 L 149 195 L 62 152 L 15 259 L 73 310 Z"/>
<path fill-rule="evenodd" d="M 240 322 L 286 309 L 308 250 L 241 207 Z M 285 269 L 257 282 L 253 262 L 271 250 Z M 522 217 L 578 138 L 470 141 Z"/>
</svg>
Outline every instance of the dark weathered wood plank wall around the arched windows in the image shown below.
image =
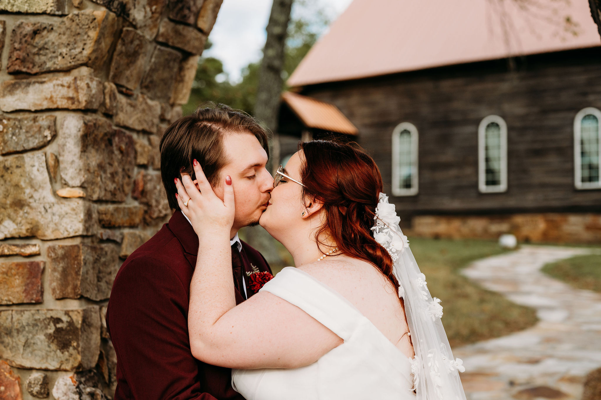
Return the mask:
<svg viewBox="0 0 601 400">
<path fill-rule="evenodd" d="M 576 190 L 573 121 L 601 109 L 601 53 L 574 50 L 479 62 L 304 89 L 334 103 L 359 129 L 391 194 L 391 134 L 407 121 L 419 132 L 419 193 L 392 197 L 415 214 L 601 211 L 601 190 Z M 478 124 L 507 123 L 508 189 L 478 192 Z"/>
</svg>

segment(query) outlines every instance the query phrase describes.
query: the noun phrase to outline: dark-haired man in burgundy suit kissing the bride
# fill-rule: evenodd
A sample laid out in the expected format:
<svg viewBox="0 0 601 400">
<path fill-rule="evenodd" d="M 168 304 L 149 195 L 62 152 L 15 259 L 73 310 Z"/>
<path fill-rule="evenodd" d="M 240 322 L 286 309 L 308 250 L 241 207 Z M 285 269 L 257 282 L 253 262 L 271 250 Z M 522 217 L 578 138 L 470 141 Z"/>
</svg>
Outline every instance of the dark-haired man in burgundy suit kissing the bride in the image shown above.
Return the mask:
<svg viewBox="0 0 601 400">
<path fill-rule="evenodd" d="M 261 253 L 237 234 L 257 225 L 269 202 L 268 151 L 267 134 L 257 121 L 227 106 L 198 109 L 165 131 L 160 172 L 175 213 L 121 265 L 106 312 L 117 353 L 115 400 L 243 400 L 231 387 L 230 369 L 200 362 L 190 351 L 188 298 L 198 236 L 177 205 L 174 178 L 186 172 L 194 179 L 197 159 L 222 197 L 222 180 L 230 175 L 236 195 L 232 284 L 241 303 L 254 294 L 246 272 L 270 271 Z"/>
</svg>

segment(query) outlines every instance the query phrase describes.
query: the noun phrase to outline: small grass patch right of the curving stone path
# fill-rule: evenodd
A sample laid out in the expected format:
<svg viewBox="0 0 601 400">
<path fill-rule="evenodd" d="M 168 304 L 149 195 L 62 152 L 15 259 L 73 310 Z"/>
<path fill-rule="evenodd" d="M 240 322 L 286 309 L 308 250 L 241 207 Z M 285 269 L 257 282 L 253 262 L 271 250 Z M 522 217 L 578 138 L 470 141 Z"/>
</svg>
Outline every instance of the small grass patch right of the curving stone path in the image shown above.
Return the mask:
<svg viewBox="0 0 601 400">
<path fill-rule="evenodd" d="M 543 272 L 578 289 L 601 292 L 601 255 L 579 255 L 551 262 Z"/>
</svg>

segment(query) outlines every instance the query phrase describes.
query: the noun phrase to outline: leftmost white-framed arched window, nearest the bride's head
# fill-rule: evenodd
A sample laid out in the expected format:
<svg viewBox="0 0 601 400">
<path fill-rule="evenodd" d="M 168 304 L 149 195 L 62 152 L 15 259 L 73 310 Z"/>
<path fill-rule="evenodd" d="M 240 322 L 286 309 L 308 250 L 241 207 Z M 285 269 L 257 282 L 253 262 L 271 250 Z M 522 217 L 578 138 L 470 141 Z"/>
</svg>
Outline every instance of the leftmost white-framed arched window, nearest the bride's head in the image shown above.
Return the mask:
<svg viewBox="0 0 601 400">
<path fill-rule="evenodd" d="M 410 123 L 392 131 L 392 194 L 413 196 L 418 192 L 418 133 Z"/>
</svg>

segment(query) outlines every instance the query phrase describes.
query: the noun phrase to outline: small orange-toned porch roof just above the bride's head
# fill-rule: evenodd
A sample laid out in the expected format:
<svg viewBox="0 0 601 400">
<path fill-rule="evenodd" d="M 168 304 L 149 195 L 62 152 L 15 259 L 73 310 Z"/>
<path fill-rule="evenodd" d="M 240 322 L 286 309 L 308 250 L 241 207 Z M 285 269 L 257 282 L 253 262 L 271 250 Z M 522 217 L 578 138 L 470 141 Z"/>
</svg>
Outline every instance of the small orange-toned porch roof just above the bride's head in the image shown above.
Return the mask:
<svg viewBox="0 0 601 400">
<path fill-rule="evenodd" d="M 293 92 L 282 93 L 282 100 L 308 128 L 356 135 L 358 129 L 330 103 Z"/>
</svg>

